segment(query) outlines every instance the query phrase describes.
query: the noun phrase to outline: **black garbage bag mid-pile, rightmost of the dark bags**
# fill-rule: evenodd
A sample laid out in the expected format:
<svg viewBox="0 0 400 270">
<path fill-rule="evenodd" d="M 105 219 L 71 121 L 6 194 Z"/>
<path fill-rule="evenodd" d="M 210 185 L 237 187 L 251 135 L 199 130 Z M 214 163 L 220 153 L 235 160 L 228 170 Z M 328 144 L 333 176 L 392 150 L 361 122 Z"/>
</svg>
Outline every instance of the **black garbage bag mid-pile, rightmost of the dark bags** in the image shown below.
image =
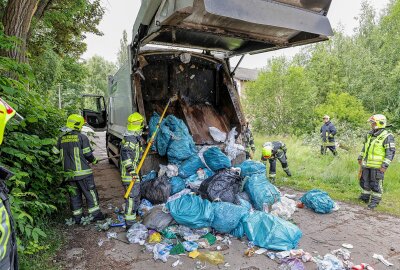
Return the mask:
<svg viewBox="0 0 400 270">
<path fill-rule="evenodd" d="M 222 170 L 201 183 L 199 193 L 210 201 L 234 203 L 236 194 L 240 192 L 240 175 L 232 170 Z"/>
</svg>

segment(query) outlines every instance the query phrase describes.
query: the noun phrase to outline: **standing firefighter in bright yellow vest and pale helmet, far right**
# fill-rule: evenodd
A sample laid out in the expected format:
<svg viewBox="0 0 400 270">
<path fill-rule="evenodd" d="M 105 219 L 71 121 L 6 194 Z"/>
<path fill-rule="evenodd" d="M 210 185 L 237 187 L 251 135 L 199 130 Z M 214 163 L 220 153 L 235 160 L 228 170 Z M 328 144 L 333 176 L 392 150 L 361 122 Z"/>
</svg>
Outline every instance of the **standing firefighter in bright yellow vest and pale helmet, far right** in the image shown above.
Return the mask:
<svg viewBox="0 0 400 270">
<path fill-rule="evenodd" d="M 368 121 L 372 130 L 365 136 L 358 157 L 362 170 L 360 179 L 362 192 L 359 199 L 369 203 L 369 209 L 374 209 L 381 201 L 384 174 L 394 158 L 396 148 L 393 135 L 385 129 L 384 115 L 375 114 Z"/>
</svg>

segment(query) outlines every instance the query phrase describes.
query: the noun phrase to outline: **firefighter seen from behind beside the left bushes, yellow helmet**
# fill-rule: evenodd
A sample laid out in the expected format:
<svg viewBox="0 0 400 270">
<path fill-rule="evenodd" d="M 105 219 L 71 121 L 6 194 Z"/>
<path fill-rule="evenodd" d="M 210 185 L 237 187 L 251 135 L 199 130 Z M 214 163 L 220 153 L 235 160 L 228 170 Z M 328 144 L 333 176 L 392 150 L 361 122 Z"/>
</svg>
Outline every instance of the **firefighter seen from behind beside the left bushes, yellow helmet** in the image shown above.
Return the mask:
<svg viewBox="0 0 400 270">
<path fill-rule="evenodd" d="M 71 114 L 64 133 L 53 148 L 55 154 L 60 154 L 64 171 L 72 174 L 68 177 L 68 184 L 71 187 L 71 210 L 76 224 L 81 223 L 83 216 L 82 195 L 86 198 L 88 214 L 93 217 L 93 221 L 106 218 L 99 206 L 99 195 L 89 166 L 98 161 L 93 156 L 88 137 L 80 132 L 84 123 L 81 115 Z"/>
</svg>

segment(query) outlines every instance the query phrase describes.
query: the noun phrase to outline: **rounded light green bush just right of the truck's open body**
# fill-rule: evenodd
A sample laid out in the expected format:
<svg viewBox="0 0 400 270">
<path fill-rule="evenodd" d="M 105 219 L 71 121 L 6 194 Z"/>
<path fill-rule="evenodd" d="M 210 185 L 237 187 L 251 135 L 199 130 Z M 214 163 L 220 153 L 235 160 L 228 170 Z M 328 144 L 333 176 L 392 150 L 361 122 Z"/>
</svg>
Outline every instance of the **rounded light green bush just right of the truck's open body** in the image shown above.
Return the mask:
<svg viewBox="0 0 400 270">
<path fill-rule="evenodd" d="M 303 67 L 277 58 L 257 81 L 247 85 L 245 110 L 256 131 L 267 134 L 312 131 L 315 93 Z"/>
</svg>

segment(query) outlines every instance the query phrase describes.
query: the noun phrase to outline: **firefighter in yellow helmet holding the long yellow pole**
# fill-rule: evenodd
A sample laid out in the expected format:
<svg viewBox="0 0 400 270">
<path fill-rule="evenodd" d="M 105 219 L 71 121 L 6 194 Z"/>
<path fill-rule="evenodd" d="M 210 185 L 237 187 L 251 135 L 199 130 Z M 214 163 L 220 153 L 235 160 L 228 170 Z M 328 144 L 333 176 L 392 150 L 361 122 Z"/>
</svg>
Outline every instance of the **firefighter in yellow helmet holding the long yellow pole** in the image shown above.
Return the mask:
<svg viewBox="0 0 400 270">
<path fill-rule="evenodd" d="M 129 229 L 136 222 L 136 211 L 140 204 L 140 178 L 136 173 L 136 167 L 139 164 L 143 153 L 142 132 L 143 116 L 135 112 L 128 117 L 128 123 L 124 138 L 121 142 L 121 180 L 125 190 L 133 179 L 135 184 L 125 200 L 125 224 Z"/>
</svg>

